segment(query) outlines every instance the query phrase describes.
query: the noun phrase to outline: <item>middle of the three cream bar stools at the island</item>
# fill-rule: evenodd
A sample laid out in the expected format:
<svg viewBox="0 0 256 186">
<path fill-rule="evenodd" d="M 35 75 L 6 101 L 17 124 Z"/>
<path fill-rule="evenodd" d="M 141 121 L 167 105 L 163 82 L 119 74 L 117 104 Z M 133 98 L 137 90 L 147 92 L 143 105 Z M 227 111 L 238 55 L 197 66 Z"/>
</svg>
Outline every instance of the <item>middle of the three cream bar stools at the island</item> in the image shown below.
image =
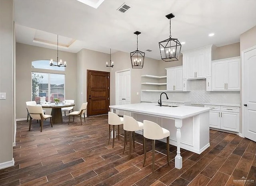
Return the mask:
<svg viewBox="0 0 256 186">
<path fill-rule="evenodd" d="M 132 153 L 132 134 L 133 134 L 133 148 L 135 148 L 135 131 L 142 130 L 143 123 L 140 121 L 136 121 L 133 117 L 124 116 L 124 150 L 126 145 L 126 131 L 130 131 L 130 151 L 129 151 L 129 159 Z M 124 154 L 124 151 L 123 151 Z"/>
</svg>

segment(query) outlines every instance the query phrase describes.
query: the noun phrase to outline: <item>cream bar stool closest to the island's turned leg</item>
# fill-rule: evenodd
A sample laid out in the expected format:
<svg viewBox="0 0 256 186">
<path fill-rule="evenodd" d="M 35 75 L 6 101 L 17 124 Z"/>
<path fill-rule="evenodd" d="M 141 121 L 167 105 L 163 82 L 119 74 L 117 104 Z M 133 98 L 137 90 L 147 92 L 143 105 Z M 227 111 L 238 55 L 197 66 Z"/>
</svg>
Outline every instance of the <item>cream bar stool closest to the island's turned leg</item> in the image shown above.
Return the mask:
<svg viewBox="0 0 256 186">
<path fill-rule="evenodd" d="M 166 149 L 167 149 L 167 163 L 169 165 L 169 138 L 170 131 L 160 127 L 155 122 L 144 120 L 143 121 L 143 136 L 144 136 L 144 162 L 146 162 L 146 138 L 152 139 L 152 172 L 154 172 L 155 165 L 155 141 L 166 137 Z"/>
</svg>

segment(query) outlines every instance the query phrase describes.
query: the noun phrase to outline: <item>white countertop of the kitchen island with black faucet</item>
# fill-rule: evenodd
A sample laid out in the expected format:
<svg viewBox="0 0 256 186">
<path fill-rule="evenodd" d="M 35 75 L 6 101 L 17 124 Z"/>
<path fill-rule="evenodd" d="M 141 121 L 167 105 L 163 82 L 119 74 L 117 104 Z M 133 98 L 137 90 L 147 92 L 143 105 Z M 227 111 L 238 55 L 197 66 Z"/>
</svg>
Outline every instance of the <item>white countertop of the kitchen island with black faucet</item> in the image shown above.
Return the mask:
<svg viewBox="0 0 256 186">
<path fill-rule="evenodd" d="M 193 106 L 160 107 L 156 103 L 137 103 L 128 105 L 114 105 L 109 107 L 118 110 L 126 110 L 155 116 L 173 117 L 178 119 L 185 119 L 187 117 L 196 116 L 212 110 L 212 108 Z"/>
</svg>

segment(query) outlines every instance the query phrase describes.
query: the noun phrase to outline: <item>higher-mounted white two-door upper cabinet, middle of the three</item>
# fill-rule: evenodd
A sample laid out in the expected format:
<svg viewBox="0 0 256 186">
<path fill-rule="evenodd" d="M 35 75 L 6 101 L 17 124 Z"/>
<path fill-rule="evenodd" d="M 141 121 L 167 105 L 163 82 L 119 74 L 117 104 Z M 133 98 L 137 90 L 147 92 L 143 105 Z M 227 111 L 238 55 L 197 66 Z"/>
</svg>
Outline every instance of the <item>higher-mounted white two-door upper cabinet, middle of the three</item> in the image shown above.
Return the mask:
<svg viewBox="0 0 256 186">
<path fill-rule="evenodd" d="M 182 54 L 183 79 L 202 79 L 211 76 L 212 45 Z"/>
</svg>

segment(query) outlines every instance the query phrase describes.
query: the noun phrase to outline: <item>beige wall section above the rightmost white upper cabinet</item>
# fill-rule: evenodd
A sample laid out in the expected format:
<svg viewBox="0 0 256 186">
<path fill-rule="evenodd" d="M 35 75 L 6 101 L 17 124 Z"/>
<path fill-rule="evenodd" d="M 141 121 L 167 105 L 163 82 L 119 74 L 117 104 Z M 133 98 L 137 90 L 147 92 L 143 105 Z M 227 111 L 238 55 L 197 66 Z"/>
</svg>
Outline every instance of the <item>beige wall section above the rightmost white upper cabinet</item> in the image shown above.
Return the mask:
<svg viewBox="0 0 256 186">
<path fill-rule="evenodd" d="M 240 43 L 216 47 L 214 60 L 240 56 Z"/>
</svg>

